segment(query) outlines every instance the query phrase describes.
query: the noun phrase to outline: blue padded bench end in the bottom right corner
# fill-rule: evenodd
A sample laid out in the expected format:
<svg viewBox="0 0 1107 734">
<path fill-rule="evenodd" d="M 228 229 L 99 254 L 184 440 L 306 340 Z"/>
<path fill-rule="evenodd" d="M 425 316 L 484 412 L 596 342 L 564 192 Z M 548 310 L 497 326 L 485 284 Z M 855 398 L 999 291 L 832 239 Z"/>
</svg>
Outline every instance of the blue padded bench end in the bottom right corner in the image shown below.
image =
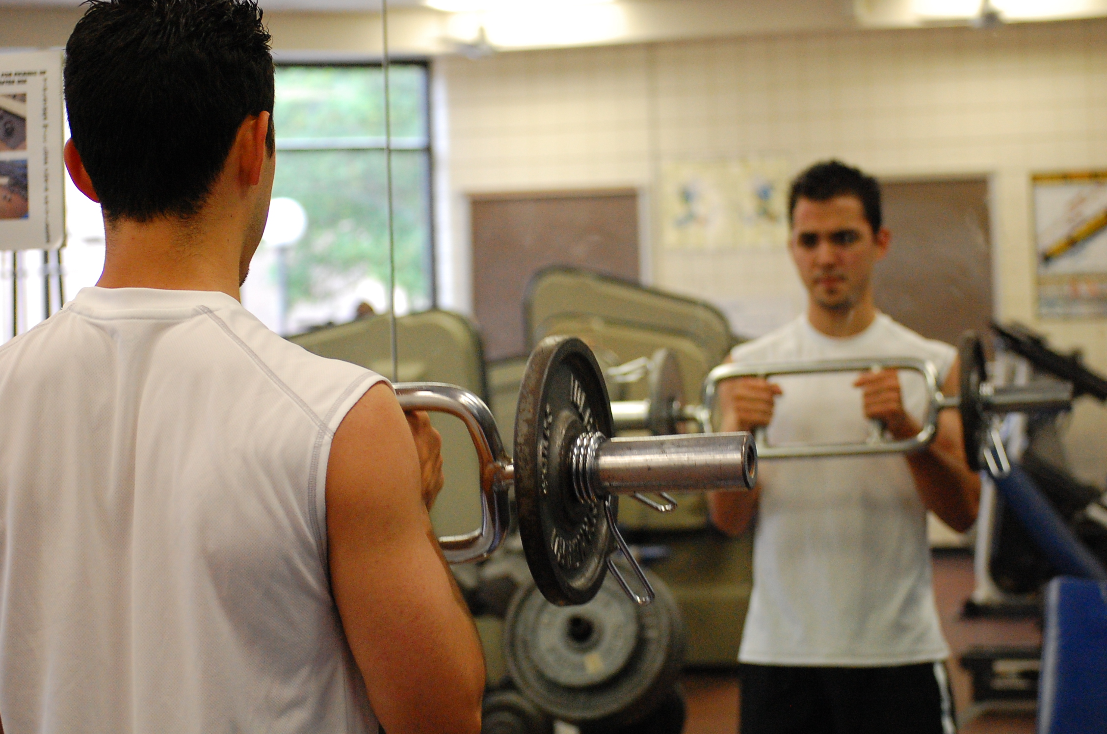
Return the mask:
<svg viewBox="0 0 1107 734">
<path fill-rule="evenodd" d="M 1037 731 L 1107 731 L 1107 583 L 1051 581 L 1043 638 Z"/>
</svg>

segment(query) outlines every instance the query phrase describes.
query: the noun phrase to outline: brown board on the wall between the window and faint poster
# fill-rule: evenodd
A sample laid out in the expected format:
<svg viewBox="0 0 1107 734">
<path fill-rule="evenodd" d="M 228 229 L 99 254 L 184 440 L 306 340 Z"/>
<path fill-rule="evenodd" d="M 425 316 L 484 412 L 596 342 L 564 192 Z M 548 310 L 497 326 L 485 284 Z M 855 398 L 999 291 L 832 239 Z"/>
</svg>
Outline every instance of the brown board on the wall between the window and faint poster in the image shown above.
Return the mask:
<svg viewBox="0 0 1107 734">
<path fill-rule="evenodd" d="M 551 265 L 638 282 L 638 194 L 633 189 L 474 196 L 473 312 L 485 356 L 523 354 L 523 299 Z"/>
</svg>

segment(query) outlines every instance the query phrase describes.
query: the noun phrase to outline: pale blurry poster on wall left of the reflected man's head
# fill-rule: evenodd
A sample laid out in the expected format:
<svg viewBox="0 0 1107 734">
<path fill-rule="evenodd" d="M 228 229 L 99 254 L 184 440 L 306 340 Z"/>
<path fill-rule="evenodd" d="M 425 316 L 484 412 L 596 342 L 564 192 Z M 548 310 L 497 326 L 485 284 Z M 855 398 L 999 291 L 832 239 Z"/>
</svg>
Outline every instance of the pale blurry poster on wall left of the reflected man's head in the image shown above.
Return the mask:
<svg viewBox="0 0 1107 734">
<path fill-rule="evenodd" d="M 780 157 L 674 161 L 661 169 L 662 246 L 749 249 L 788 238 L 790 168 Z"/>
</svg>

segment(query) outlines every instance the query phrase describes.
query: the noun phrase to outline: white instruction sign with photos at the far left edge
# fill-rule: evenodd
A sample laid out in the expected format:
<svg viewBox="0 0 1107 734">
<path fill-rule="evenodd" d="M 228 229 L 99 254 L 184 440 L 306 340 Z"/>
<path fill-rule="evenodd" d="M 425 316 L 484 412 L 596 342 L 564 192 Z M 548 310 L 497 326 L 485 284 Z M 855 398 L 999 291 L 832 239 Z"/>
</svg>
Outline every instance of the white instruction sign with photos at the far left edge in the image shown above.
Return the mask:
<svg viewBox="0 0 1107 734">
<path fill-rule="evenodd" d="M 0 53 L 0 250 L 65 239 L 62 52 Z"/>
</svg>

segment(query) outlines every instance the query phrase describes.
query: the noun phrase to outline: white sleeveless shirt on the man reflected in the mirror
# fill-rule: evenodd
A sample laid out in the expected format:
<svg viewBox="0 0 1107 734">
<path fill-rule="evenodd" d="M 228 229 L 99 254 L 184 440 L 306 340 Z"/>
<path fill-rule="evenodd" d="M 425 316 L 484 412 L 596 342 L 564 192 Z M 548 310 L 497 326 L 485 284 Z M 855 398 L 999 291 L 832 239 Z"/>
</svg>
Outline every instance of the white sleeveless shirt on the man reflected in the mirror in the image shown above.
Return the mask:
<svg viewBox="0 0 1107 734">
<path fill-rule="evenodd" d="M 878 314 L 834 339 L 806 316 L 734 349 L 741 364 L 870 356 L 930 360 L 944 380 L 956 350 Z M 923 380 L 901 371 L 908 412 Z M 863 442 L 857 373 L 778 376 L 768 442 Z M 927 511 L 902 455 L 765 459 L 754 535 L 754 588 L 738 659 L 780 665 L 900 665 L 944 660 L 931 583 Z"/>
</svg>

